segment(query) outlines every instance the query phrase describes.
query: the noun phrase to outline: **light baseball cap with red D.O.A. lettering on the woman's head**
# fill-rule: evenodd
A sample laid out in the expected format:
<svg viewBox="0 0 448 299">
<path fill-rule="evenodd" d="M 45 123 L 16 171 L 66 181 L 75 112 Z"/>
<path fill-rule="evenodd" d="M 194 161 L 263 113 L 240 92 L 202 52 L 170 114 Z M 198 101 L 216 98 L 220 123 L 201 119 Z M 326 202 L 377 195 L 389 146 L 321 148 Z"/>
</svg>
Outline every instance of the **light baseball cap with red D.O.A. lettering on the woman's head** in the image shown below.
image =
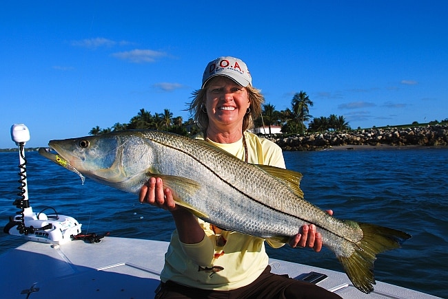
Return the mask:
<svg viewBox="0 0 448 299">
<path fill-rule="evenodd" d="M 252 85 L 252 77 L 243 60 L 231 56 L 218 57 L 210 61 L 202 76 L 202 87 L 214 76 L 226 76 L 243 87 Z"/>
</svg>

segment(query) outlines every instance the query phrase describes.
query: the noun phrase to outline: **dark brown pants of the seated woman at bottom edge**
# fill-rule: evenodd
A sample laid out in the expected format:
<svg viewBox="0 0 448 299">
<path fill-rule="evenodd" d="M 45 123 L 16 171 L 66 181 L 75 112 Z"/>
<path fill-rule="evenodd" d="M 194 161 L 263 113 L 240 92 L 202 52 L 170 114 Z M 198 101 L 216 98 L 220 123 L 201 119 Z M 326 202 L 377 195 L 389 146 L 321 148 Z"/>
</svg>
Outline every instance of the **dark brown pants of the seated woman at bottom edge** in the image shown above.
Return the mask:
<svg viewBox="0 0 448 299">
<path fill-rule="evenodd" d="M 156 289 L 156 299 L 174 298 L 216 298 L 216 299 L 289 299 L 289 298 L 340 298 L 337 294 L 327 291 L 322 287 L 305 283 L 301 280 L 289 278 L 271 273 L 271 267 L 267 266 L 265 271 L 256 280 L 245 287 L 232 291 L 213 291 L 186 287 L 172 281 L 161 283 Z"/>
</svg>

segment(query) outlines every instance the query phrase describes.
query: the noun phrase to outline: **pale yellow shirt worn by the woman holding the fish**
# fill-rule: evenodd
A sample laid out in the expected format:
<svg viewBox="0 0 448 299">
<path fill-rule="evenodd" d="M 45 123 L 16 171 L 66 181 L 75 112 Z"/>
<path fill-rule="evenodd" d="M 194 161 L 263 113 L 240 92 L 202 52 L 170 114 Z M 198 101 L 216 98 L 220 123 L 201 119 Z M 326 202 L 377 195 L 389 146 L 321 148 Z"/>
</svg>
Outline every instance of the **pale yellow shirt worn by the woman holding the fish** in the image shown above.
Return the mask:
<svg viewBox="0 0 448 299">
<path fill-rule="evenodd" d="M 203 139 L 203 135 L 196 138 Z M 281 148 L 274 142 L 248 132 L 245 132 L 245 140 L 249 163 L 285 168 Z M 209 142 L 239 159 L 245 159 L 242 140 L 232 144 Z M 200 243 L 181 243 L 177 231 L 172 233 L 161 273 L 162 282 L 172 280 L 190 287 L 227 291 L 249 285 L 267 267 L 265 239 L 221 231 L 201 219 L 198 222 L 205 231 Z M 283 245 L 266 241 L 275 248 Z"/>
</svg>

